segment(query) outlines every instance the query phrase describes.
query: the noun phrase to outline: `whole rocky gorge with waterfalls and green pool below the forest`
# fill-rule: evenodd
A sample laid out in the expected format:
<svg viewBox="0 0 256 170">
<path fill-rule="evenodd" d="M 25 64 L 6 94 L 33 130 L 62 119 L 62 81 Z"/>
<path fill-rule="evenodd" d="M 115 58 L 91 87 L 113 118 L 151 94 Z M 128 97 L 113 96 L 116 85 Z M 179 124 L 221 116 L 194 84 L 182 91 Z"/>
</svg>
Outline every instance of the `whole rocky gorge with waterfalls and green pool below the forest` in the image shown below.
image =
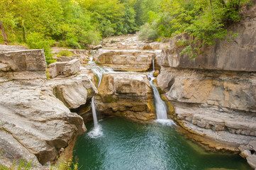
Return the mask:
<svg viewBox="0 0 256 170">
<path fill-rule="evenodd" d="M 79 169 L 255 169 L 255 28 L 245 18 L 191 60 L 187 34 L 56 47 L 48 67 L 43 50 L 0 45 L 0 163 L 49 169 L 74 147 Z"/>
</svg>

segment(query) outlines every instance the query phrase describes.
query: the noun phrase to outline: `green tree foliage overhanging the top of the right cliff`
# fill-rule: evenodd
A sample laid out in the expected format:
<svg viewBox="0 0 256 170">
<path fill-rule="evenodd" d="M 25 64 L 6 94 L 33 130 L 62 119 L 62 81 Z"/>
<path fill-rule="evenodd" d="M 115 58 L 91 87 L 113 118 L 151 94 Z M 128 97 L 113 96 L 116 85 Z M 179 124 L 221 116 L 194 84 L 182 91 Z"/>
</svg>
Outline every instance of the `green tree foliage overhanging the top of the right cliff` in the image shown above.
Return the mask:
<svg viewBox="0 0 256 170">
<path fill-rule="evenodd" d="M 159 1 L 155 0 L 154 4 L 157 4 L 158 8 L 149 6 L 147 8 L 151 9 L 144 10 L 144 12 L 148 11 L 147 22 L 162 37 L 171 38 L 174 35 L 189 33 L 194 41 L 187 45 L 178 42 L 177 45 L 185 47 L 182 54 L 195 57 L 199 51 L 197 48 L 205 44 L 214 44 L 216 38 L 224 40 L 229 34 L 232 37 L 237 35 L 228 33 L 226 28 L 230 24 L 240 21 L 240 8 L 248 1 L 162 0 L 159 5 L 157 4 Z M 145 27 L 141 28 L 141 30 L 143 29 Z"/>
</svg>

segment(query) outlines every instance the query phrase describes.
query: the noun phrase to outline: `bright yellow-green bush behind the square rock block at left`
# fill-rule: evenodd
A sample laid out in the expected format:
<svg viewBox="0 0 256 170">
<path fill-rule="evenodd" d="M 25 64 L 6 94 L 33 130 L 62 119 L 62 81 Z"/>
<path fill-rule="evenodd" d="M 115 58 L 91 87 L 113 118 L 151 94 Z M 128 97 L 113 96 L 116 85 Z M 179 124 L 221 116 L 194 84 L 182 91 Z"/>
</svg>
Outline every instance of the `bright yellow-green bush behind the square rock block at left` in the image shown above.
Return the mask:
<svg viewBox="0 0 256 170">
<path fill-rule="evenodd" d="M 52 50 L 50 46 L 55 44 L 55 41 L 51 38 L 45 38 L 41 33 L 30 33 L 26 38 L 26 43 L 30 49 L 43 49 L 45 50 L 45 60 L 47 64 L 56 62 L 52 59 Z"/>
</svg>

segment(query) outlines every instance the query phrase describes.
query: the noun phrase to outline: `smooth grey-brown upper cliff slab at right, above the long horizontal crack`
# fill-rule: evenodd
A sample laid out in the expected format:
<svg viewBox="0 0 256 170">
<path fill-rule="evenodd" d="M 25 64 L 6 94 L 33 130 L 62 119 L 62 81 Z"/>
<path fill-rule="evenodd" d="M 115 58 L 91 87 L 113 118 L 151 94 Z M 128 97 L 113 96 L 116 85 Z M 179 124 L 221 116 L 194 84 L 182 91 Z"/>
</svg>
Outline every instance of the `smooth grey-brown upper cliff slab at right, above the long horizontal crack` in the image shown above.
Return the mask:
<svg viewBox="0 0 256 170">
<path fill-rule="evenodd" d="M 256 13 L 254 11 L 254 16 Z M 177 35 L 171 41 L 167 50 L 162 50 L 160 64 L 169 67 L 189 69 L 218 69 L 231 71 L 256 72 L 256 41 L 255 18 L 243 19 L 228 28 L 228 31 L 238 33 L 226 40 L 216 40 L 216 45 L 204 45 L 198 57 L 189 60 L 188 55 L 180 55 L 184 47 L 177 45 L 178 40 L 191 40 L 189 35 Z"/>
</svg>

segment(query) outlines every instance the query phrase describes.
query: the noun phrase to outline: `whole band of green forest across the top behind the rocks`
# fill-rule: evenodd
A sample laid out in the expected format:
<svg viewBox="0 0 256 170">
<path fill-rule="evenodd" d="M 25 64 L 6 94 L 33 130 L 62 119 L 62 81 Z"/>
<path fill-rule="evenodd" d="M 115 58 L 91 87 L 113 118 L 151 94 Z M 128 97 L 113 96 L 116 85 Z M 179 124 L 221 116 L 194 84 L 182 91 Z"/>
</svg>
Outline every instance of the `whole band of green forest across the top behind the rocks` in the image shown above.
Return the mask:
<svg viewBox="0 0 256 170">
<path fill-rule="evenodd" d="M 189 33 L 193 42 L 180 42 L 194 53 L 214 38 L 230 34 L 226 28 L 240 21 L 248 0 L 0 0 L 0 44 L 87 49 L 102 38 L 135 33 L 151 41 L 168 41 Z M 191 43 L 200 41 L 199 47 Z"/>
</svg>

